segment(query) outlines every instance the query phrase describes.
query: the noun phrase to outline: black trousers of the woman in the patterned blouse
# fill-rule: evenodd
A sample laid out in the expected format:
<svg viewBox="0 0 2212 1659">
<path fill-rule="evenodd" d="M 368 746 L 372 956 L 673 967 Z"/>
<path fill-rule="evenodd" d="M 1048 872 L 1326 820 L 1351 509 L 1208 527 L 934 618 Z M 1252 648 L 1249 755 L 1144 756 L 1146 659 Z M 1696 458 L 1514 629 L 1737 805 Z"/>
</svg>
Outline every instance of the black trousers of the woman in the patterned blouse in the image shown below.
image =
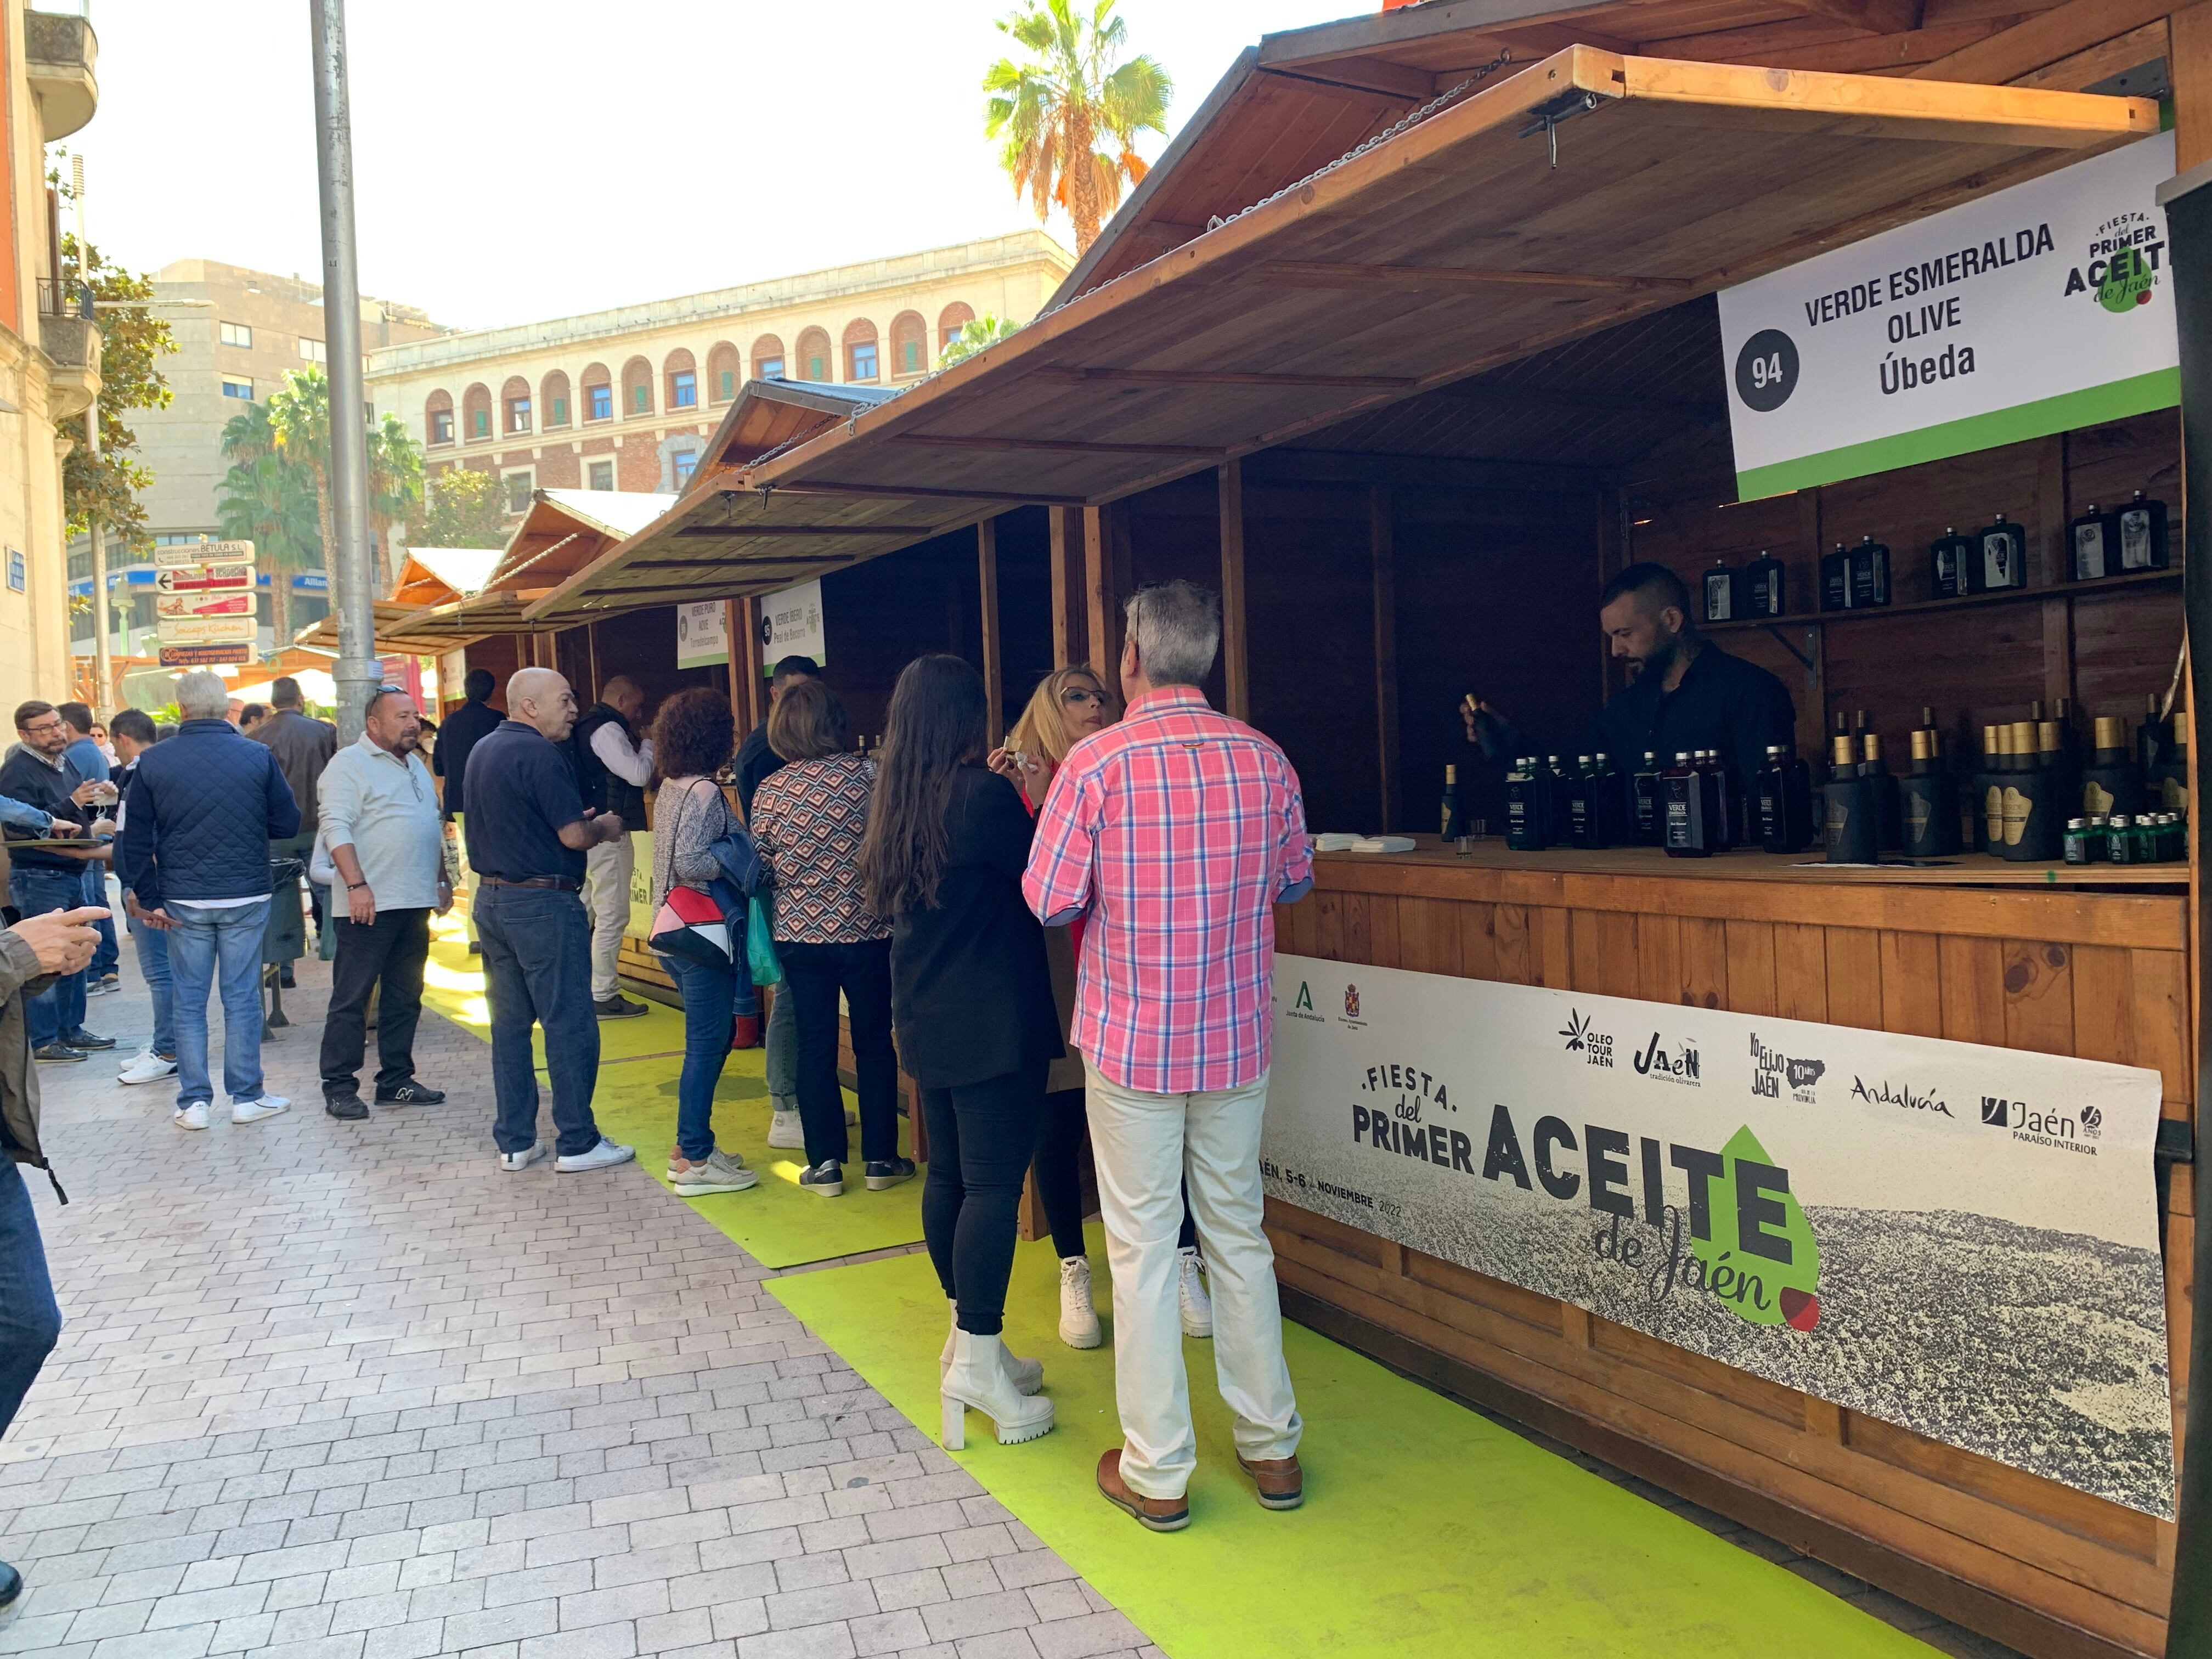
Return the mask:
<svg viewBox="0 0 2212 1659">
<path fill-rule="evenodd" d="M 860 1095 L 860 1157 L 898 1157 L 898 1053 L 891 1048 L 891 940 L 865 945 L 776 942 L 783 987 L 799 1020 L 799 1121 L 807 1166 L 843 1164 L 845 1095 L 836 1082 L 836 993 L 852 1015 L 852 1066 Z"/>
</svg>

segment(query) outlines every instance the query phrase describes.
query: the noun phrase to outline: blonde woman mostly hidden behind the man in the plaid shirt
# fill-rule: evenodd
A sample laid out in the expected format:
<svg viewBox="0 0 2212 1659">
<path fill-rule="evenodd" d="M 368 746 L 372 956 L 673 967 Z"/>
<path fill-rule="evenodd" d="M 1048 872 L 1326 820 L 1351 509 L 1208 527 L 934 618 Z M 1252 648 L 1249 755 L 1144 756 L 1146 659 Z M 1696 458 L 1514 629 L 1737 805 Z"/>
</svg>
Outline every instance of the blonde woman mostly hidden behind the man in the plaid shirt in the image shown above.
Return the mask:
<svg viewBox="0 0 2212 1659">
<path fill-rule="evenodd" d="M 1060 763 L 1068 750 L 1093 732 L 1119 719 L 1113 695 L 1088 668 L 1055 668 L 1037 681 L 1022 719 L 1006 732 L 1006 745 L 991 752 L 989 768 L 1006 776 L 1029 803 L 1031 814 L 1044 807 Z M 1044 929 L 1044 960 L 1053 971 L 1053 1002 L 1060 1006 L 1060 1035 L 1068 1035 L 1075 1018 L 1075 964 L 1082 960 L 1084 922 Z M 1084 1060 L 1068 1044 L 1044 1077 L 1044 1126 L 1037 1133 L 1037 1199 L 1053 1230 L 1053 1252 L 1060 1256 L 1060 1340 L 1068 1347 L 1097 1347 L 1104 1340 L 1097 1307 L 1091 1301 L 1091 1261 L 1084 1256 L 1084 1190 L 1082 1144 L 1091 1133 L 1084 1113 Z M 1183 1232 L 1177 1239 L 1181 1256 L 1177 1281 L 1183 1303 L 1183 1334 L 1212 1336 L 1214 1307 L 1206 1294 L 1199 1230 L 1183 1201 Z"/>
</svg>

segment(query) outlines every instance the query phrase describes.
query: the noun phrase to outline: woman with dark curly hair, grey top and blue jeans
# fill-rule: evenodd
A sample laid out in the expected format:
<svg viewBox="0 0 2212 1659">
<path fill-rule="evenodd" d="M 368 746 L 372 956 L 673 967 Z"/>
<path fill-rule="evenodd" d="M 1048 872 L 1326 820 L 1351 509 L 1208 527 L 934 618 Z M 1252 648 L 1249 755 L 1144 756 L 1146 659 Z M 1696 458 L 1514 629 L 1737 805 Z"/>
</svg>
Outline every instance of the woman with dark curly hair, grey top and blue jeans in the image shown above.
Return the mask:
<svg viewBox="0 0 2212 1659">
<path fill-rule="evenodd" d="M 737 830 L 737 814 L 714 774 L 737 752 L 730 699 L 706 686 L 677 692 L 653 721 L 653 761 L 661 774 L 653 799 L 653 907 L 670 887 L 708 891 L 721 863 L 708 852 Z M 661 956 L 661 967 L 684 993 L 684 1075 L 677 1082 L 677 1144 L 668 1152 L 668 1183 L 677 1197 L 743 1192 L 761 1177 L 737 1152 L 714 1146 L 714 1086 L 730 1060 L 730 1020 L 737 1013 L 734 962 Z M 743 984 L 752 998 L 750 980 Z M 745 1009 L 754 1013 L 754 1009 Z"/>
</svg>

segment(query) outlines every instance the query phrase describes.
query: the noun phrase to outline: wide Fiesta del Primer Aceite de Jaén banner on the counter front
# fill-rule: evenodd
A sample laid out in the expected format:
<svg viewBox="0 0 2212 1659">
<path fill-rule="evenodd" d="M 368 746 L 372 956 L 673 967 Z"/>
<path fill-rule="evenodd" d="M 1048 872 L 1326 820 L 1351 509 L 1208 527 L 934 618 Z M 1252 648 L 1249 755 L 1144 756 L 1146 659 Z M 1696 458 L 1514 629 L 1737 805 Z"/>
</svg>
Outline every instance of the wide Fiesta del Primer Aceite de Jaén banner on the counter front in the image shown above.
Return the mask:
<svg viewBox="0 0 2212 1659">
<path fill-rule="evenodd" d="M 1279 956 L 1267 1194 L 2150 1515 L 2159 1073 Z"/>
</svg>

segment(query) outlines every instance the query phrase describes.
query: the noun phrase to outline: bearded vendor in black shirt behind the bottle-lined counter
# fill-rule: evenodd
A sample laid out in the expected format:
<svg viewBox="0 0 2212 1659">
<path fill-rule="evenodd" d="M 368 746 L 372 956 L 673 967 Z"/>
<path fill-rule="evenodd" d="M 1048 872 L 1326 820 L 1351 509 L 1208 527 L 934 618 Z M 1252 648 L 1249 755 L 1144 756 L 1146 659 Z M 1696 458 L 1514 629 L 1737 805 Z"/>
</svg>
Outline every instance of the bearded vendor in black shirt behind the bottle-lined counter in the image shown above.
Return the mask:
<svg viewBox="0 0 2212 1659">
<path fill-rule="evenodd" d="M 1699 635 L 1690 591 L 1663 564 L 1630 564 L 1613 577 L 1597 595 L 1597 626 L 1637 675 L 1582 728 L 1573 754 L 1608 754 L 1628 772 L 1646 754 L 1672 765 L 1681 752 L 1717 750 L 1743 787 L 1765 763 L 1767 745 L 1796 743 L 1790 692 L 1759 664 L 1730 657 Z M 1462 703 L 1460 719 L 1467 741 L 1482 743 L 1493 759 L 1542 748 L 1489 703 Z"/>
</svg>

